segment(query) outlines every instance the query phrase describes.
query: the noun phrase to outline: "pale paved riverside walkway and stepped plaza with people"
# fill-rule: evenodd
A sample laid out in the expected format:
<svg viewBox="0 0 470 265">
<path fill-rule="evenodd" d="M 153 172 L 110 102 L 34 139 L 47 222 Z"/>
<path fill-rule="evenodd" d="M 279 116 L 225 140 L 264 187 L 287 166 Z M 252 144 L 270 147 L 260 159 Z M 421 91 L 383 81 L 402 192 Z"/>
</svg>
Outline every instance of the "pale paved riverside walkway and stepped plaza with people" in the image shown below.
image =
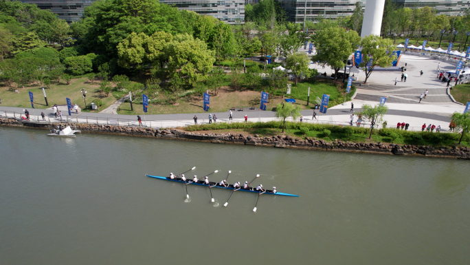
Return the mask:
<svg viewBox="0 0 470 265">
<path fill-rule="evenodd" d="M 350 105 L 354 103 L 357 112 L 360 110 L 361 105 L 369 104 L 376 105 L 379 103 L 381 96 L 387 96 L 388 100 L 385 105 L 388 106 L 389 111 L 385 115 L 384 120 L 387 120 L 388 127 L 396 127 L 396 123 L 410 123 L 411 130 L 421 130 L 421 125 L 429 123 L 434 125 L 441 125 L 443 131 L 448 129 L 450 122 L 449 116 L 454 112 L 463 112 L 464 105 L 454 103 L 447 95 L 447 83 L 439 82 L 436 78 L 438 70 L 437 60 L 429 59 L 429 57 L 413 56 L 403 54 L 399 66 L 407 64 L 407 81 L 399 82 L 394 85 L 395 77 L 400 79 L 401 72 L 373 72 L 368 80 L 368 85 L 357 85 L 357 92 L 355 98 L 346 102 L 344 105 L 337 105 L 328 109 L 326 114 L 320 114 L 317 110 L 317 119 L 313 119 L 313 110 L 304 110 L 302 116 L 305 123 L 331 123 L 336 125 L 348 125 L 350 123 Z M 316 65 L 319 72 L 326 72 L 331 75 L 331 69 L 328 67 L 322 68 Z M 441 70 L 455 70 L 454 63 L 447 61 L 440 61 Z M 419 72 L 423 70 L 423 76 Z M 362 72 L 358 76 L 358 84 L 362 83 L 365 79 L 365 74 Z M 362 82 L 361 82 L 362 81 Z M 419 102 L 419 95 L 428 89 L 426 99 Z M 93 123 L 93 124 L 110 124 L 110 125 L 130 125 L 138 126 L 137 116 L 118 115 L 111 113 L 88 113 L 79 112 L 79 114 L 72 113 L 71 116 L 67 115 L 67 107 L 59 106 L 63 113 L 63 121 L 71 121 L 78 123 Z M 31 109 L 30 115 L 33 120 L 43 122 L 39 116 L 41 112 L 46 114 L 45 122 L 58 122 L 60 119 L 55 118 L 52 114 L 52 109 Z M 161 115 L 141 115 L 142 122 L 146 127 L 152 128 L 166 128 L 166 127 L 182 127 L 194 124 L 192 118 L 194 115 L 198 117 L 199 124 L 208 123 L 208 115 L 210 112 L 204 113 L 191 113 L 191 114 L 161 114 Z M 3 107 L 0 106 L 0 116 L 8 116 L 19 118 L 23 114 L 23 108 L 19 107 Z M 211 113 L 214 114 L 214 113 Z M 262 112 L 259 110 L 249 110 L 245 108 L 243 111 L 233 112 L 233 121 L 229 120 L 229 112 L 215 113 L 218 123 L 221 122 L 243 122 L 244 116 L 248 116 L 249 122 L 269 121 L 276 120 L 275 112 Z M 356 122 L 355 117 L 354 122 Z M 362 123 L 362 126 L 368 127 L 368 122 Z"/>
</svg>

